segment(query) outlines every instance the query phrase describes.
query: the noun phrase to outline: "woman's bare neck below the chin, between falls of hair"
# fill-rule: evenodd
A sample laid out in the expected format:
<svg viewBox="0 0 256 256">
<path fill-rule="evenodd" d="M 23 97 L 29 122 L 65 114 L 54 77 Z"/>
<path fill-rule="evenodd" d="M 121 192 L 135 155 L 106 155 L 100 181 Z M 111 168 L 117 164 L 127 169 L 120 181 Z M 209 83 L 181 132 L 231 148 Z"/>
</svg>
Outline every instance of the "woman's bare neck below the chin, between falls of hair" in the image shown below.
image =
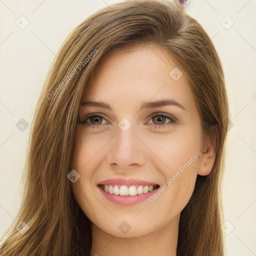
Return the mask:
<svg viewBox="0 0 256 256">
<path fill-rule="evenodd" d="M 131 238 L 113 236 L 92 224 L 90 255 L 176 256 L 179 216 L 157 230 Z"/>
</svg>

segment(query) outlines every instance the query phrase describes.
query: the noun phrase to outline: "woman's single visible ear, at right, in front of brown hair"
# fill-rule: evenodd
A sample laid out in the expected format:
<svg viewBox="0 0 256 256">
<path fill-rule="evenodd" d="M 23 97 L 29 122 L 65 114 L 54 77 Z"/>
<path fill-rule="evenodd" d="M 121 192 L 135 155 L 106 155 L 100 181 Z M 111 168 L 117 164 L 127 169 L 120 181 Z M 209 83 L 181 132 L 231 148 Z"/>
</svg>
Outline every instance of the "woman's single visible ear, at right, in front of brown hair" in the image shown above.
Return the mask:
<svg viewBox="0 0 256 256">
<path fill-rule="evenodd" d="M 214 138 L 214 137 L 213 137 Z M 214 147 L 214 140 L 213 138 L 207 137 L 204 140 L 203 148 L 202 148 L 202 154 L 200 157 L 200 163 L 199 168 L 197 171 L 197 174 L 199 175 L 208 175 L 212 169 L 216 152 Z"/>
</svg>

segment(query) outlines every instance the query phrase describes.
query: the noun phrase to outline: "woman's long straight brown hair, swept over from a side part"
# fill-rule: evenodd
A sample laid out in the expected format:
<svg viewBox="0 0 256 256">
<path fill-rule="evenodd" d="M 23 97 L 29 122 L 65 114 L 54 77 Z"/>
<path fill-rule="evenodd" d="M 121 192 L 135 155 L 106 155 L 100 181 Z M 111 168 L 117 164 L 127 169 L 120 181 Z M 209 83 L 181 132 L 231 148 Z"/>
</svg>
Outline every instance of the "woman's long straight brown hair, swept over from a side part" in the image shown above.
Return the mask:
<svg viewBox="0 0 256 256">
<path fill-rule="evenodd" d="M 161 47 L 187 74 L 203 134 L 211 134 L 215 146 L 211 172 L 197 175 L 181 212 L 177 255 L 223 255 L 220 181 L 228 104 L 219 57 L 202 26 L 170 1 L 131 0 L 82 21 L 51 64 L 29 137 L 21 208 L 2 237 L 2 256 L 89 255 L 90 221 L 67 178 L 78 108 L 102 58 L 137 45 Z M 29 227 L 23 234 L 16 229 L 20 221 Z"/>
</svg>

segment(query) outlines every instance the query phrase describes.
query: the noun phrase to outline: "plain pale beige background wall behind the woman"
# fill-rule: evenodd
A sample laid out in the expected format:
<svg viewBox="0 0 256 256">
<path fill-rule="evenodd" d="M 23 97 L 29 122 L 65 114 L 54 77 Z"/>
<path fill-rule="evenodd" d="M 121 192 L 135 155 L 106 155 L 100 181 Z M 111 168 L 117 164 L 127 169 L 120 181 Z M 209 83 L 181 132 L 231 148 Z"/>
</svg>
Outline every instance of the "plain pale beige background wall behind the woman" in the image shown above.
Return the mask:
<svg viewBox="0 0 256 256">
<path fill-rule="evenodd" d="M 0 0 L 0 235 L 18 211 L 29 128 L 54 54 L 75 25 L 114 2 Z M 186 11 L 212 38 L 225 72 L 231 114 L 223 179 L 226 255 L 256 255 L 256 1 L 191 0 Z M 21 118 L 28 124 L 23 131 L 16 126 Z"/>
</svg>

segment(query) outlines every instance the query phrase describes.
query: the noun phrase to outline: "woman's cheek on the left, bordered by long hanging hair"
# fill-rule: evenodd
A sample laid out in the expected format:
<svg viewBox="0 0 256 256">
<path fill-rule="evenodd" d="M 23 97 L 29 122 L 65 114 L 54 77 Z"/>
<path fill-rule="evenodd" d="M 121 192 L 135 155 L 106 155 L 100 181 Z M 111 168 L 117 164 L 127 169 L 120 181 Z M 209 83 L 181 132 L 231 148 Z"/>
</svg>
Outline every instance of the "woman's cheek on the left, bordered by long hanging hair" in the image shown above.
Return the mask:
<svg viewBox="0 0 256 256">
<path fill-rule="evenodd" d="M 76 201 L 87 216 L 97 216 L 95 212 L 97 203 L 92 194 L 97 190 L 96 178 L 100 175 L 98 166 L 105 158 L 104 147 L 107 145 L 109 136 L 99 133 L 88 134 L 83 128 L 77 129 L 72 168 L 79 173 L 80 177 L 72 183 L 72 190 Z"/>
</svg>

